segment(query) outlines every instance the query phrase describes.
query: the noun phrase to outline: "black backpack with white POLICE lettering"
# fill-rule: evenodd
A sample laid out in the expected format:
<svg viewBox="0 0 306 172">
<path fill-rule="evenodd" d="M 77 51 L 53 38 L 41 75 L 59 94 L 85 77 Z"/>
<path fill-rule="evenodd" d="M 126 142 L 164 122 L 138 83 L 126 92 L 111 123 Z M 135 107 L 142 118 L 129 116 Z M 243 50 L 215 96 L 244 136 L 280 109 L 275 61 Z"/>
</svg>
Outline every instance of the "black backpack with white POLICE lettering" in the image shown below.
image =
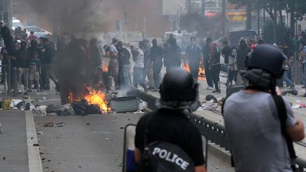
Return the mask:
<svg viewBox="0 0 306 172">
<path fill-rule="evenodd" d="M 159 141 L 147 145 L 151 117 L 147 120 L 145 149 L 137 172 L 193 172 L 193 160 L 178 145 Z"/>
</svg>

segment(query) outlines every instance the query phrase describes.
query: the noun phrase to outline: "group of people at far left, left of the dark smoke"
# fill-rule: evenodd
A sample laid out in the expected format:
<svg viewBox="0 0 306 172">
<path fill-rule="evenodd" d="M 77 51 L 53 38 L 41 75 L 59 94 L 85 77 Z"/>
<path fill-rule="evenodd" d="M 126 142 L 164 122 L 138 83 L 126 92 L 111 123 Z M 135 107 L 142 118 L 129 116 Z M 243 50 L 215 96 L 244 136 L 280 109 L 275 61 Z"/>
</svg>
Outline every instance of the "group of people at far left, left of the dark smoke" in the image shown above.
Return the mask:
<svg viewBox="0 0 306 172">
<path fill-rule="evenodd" d="M 4 40 L 4 47 L 1 48 L 1 64 L 4 66 L 1 67 L 0 84 L 5 84 L 7 73 L 10 72 L 11 89 L 13 91 L 16 84 L 18 93 L 28 94 L 33 88 L 37 91 L 50 90 L 50 79 L 58 85 L 50 67 L 56 52 L 50 38 L 38 39 L 33 33 L 28 36 L 26 30 L 21 28 L 16 28 L 13 37 L 3 22 L 0 22 L 0 28 Z"/>
</svg>

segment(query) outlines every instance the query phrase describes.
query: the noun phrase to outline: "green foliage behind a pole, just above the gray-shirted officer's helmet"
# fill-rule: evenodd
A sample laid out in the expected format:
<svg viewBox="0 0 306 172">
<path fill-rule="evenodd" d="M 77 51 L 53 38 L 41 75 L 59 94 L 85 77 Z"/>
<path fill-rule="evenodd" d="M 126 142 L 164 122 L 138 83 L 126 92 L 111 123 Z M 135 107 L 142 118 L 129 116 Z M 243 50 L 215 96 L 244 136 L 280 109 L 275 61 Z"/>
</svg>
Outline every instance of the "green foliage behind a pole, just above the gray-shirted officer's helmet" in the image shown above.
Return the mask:
<svg viewBox="0 0 306 172">
<path fill-rule="evenodd" d="M 283 35 L 286 31 L 285 25 L 278 24 L 276 26 L 276 42 L 273 42 L 273 22 L 266 21 L 266 25 L 264 25 L 262 37 L 266 43 L 269 44 L 279 44 L 279 42 L 283 41 Z"/>
</svg>

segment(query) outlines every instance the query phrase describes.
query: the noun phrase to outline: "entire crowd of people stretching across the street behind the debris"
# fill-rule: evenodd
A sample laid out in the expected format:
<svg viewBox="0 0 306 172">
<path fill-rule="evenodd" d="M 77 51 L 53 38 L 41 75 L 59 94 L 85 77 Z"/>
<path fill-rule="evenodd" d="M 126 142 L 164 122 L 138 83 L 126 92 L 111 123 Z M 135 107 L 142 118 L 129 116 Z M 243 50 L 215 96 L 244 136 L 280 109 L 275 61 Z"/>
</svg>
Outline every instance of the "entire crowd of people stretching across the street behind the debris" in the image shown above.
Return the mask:
<svg viewBox="0 0 306 172">
<path fill-rule="evenodd" d="M 50 38 L 36 37 L 33 32 L 28 35 L 26 30 L 19 27 L 16 28 L 12 37 L 11 31 L 4 26 L 4 23 L 0 23 L 0 26 L 0 34 L 5 45 L 1 50 L 2 64 L 8 64 L 8 61 L 10 61 L 11 85 L 14 81 L 14 69 L 16 69 L 18 93 L 23 92 L 25 94 L 30 92 L 32 88 L 37 89 L 37 91 L 49 90 L 50 79 L 54 81 L 56 90 L 60 93 L 59 78 L 62 76 L 58 72 L 60 69 L 57 68 L 62 65 L 55 65 L 57 68 L 54 69 L 53 64 L 62 64 L 57 59 L 67 58 L 63 56 L 75 57 L 81 55 L 84 55 L 82 58 L 86 59 L 84 62 L 88 64 L 88 67 L 84 69 L 86 73 L 84 78 L 91 78 L 83 79 L 84 82 L 101 90 L 106 89 L 106 92 L 111 92 L 112 83 L 115 84 L 115 90 L 125 88 L 128 85 L 136 88 L 140 85 L 144 91 L 158 91 L 159 84 L 162 81 L 161 71 L 163 67 L 166 68 L 166 71 L 169 71 L 169 69 L 182 65 L 186 66 L 187 64 L 195 79 L 198 79 L 199 69 L 205 69 L 207 89 L 212 90 L 212 93 L 220 93 L 222 58 L 228 74 L 225 86 L 246 85 L 246 80 L 240 72 L 246 69 L 244 64 L 246 56 L 254 50 L 254 47 L 264 43 L 263 40 L 242 39 L 237 47 L 232 47 L 225 40 L 222 42 L 223 46 L 218 47 L 216 42 L 212 42 L 211 38 L 206 38 L 203 45 L 200 44 L 200 40 L 191 37 L 190 45 L 186 47 L 186 50 L 182 50 L 182 34 L 179 30 L 175 35 L 170 34 L 169 39 L 163 44 L 157 42 L 157 39 L 149 41 L 144 38 L 137 45 L 133 45 L 130 42 L 123 43 L 117 38 L 113 38 L 109 45 L 104 45 L 102 48 L 96 38 L 86 41 L 63 35 L 58 38 L 55 44 Z M 288 57 L 285 62 L 287 70 L 283 77 L 278 79 L 279 87 L 283 87 L 283 81 L 285 81 L 287 87 L 295 88 L 290 67 L 290 60 L 294 59 L 295 53 L 300 54 L 302 71 L 306 76 L 306 70 L 304 70 L 306 69 L 306 34 L 302 31 L 300 25 L 298 30 L 295 38 L 288 39 L 286 33 L 283 36 L 283 42 L 278 43 L 278 45 L 273 44 Z M 76 48 L 83 52 L 81 54 L 67 52 L 69 49 L 74 50 Z M 103 57 L 109 59 L 108 64 L 102 64 Z M 68 62 L 71 62 L 74 66 L 73 60 L 67 60 Z M 134 64 L 131 64 L 131 62 L 134 62 Z M 71 64 L 66 64 L 65 67 L 69 69 L 67 66 Z M 107 74 L 103 69 L 106 65 L 108 68 Z M 134 67 L 133 77 L 130 75 L 132 66 Z M 2 67 L 1 70 L 2 74 L 8 72 L 6 67 Z M 70 73 L 68 72 L 68 74 Z M 2 75 L 0 84 L 4 84 L 4 82 L 5 75 Z M 23 90 L 21 89 L 22 85 Z"/>
</svg>

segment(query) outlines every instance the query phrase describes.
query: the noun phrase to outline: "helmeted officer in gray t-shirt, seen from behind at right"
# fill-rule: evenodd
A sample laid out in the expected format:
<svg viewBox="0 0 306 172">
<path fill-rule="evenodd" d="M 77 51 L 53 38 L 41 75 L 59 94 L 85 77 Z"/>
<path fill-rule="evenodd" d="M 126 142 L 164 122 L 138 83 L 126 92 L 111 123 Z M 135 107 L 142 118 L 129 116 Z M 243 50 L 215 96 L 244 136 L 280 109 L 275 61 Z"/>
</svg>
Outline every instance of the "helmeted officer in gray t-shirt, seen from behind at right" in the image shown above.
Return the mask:
<svg viewBox="0 0 306 172">
<path fill-rule="evenodd" d="M 276 79 L 283 74 L 283 62 L 283 52 L 275 47 L 256 47 L 242 72 L 249 86 L 225 101 L 223 115 L 236 171 L 293 171 L 272 96 Z M 302 121 L 293 115 L 289 103 L 284 103 L 287 134 L 300 141 L 305 137 Z"/>
</svg>

